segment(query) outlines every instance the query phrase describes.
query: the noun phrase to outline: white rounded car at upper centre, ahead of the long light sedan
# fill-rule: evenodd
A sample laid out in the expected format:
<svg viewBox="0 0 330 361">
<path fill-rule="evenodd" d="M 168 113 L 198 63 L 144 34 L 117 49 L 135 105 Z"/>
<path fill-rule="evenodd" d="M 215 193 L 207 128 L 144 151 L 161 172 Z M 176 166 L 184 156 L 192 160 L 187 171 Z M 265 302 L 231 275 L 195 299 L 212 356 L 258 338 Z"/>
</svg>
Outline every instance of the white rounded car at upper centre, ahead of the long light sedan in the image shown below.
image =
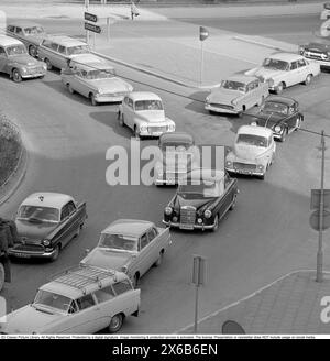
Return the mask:
<svg viewBox="0 0 330 361">
<path fill-rule="evenodd" d="M 160 136 L 174 132 L 175 122 L 165 117 L 162 99 L 154 92 L 132 91 L 119 106 L 120 125 L 128 125 L 139 136 Z"/>
</svg>

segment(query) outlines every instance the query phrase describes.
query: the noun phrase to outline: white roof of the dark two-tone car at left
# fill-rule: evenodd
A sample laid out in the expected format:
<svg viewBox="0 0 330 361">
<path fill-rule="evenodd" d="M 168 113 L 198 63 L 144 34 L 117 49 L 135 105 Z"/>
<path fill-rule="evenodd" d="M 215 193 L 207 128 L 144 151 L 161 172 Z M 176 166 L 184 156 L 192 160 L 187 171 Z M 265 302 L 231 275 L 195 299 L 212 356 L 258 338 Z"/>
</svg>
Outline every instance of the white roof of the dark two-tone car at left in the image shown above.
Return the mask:
<svg viewBox="0 0 330 361">
<path fill-rule="evenodd" d="M 70 200 L 74 201 L 74 198 L 65 194 L 53 192 L 38 192 L 33 193 L 28 198 L 25 198 L 21 206 L 43 206 L 59 209 Z"/>
</svg>

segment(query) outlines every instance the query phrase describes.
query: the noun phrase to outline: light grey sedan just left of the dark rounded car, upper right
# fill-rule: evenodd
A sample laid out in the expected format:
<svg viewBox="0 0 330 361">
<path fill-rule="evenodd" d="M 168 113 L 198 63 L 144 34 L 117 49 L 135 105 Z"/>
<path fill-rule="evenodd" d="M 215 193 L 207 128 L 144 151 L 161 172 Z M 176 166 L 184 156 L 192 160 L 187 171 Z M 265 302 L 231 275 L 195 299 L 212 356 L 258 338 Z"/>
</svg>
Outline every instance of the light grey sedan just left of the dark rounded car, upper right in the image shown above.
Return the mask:
<svg viewBox="0 0 330 361">
<path fill-rule="evenodd" d="M 209 112 L 241 112 L 262 105 L 268 96 L 268 85 L 255 76 L 233 75 L 221 81 L 206 98 L 205 109 Z"/>
</svg>

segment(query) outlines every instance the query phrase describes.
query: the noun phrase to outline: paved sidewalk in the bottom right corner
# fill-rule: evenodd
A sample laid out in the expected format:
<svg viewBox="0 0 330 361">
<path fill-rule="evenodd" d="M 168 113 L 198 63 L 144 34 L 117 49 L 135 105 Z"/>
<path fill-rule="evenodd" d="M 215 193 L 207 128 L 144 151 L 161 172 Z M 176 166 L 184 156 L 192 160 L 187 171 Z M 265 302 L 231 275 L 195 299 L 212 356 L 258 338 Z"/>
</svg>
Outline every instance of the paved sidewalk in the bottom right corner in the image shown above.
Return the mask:
<svg viewBox="0 0 330 361">
<path fill-rule="evenodd" d="M 315 280 L 315 271 L 289 273 L 246 298 L 199 320 L 198 333 L 220 335 L 222 325 L 233 320 L 248 335 L 329 335 L 330 310 L 327 313 L 327 306 L 330 298 L 323 305 L 321 299 L 330 297 L 330 272 L 324 272 L 323 282 Z M 190 325 L 176 333 L 188 335 L 193 331 L 194 326 Z"/>
</svg>

